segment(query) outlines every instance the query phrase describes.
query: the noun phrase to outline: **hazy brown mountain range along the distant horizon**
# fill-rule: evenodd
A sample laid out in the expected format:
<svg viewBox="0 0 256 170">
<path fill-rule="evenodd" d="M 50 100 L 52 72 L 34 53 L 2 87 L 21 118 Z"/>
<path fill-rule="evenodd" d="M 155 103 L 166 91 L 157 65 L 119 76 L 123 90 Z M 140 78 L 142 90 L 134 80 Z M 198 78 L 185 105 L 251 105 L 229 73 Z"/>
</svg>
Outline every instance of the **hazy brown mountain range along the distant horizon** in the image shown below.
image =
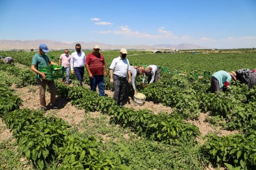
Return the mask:
<svg viewBox="0 0 256 170">
<path fill-rule="evenodd" d="M 47 44 L 50 50 L 62 50 L 62 49 L 75 49 L 76 43 L 80 43 L 83 50 L 92 50 L 94 45 L 100 45 L 101 50 L 119 50 L 120 48 L 126 48 L 128 50 L 157 50 L 157 49 L 172 49 L 176 48 L 179 50 L 192 50 L 192 49 L 209 49 L 208 47 L 202 47 L 192 44 L 180 44 L 180 45 L 170 45 L 170 44 L 159 44 L 159 45 L 108 45 L 99 42 L 75 42 L 75 43 L 65 43 L 60 41 L 52 41 L 49 39 L 37 39 L 28 41 L 19 40 L 6 40 L 0 39 L 0 50 L 38 50 L 40 43 Z"/>
</svg>

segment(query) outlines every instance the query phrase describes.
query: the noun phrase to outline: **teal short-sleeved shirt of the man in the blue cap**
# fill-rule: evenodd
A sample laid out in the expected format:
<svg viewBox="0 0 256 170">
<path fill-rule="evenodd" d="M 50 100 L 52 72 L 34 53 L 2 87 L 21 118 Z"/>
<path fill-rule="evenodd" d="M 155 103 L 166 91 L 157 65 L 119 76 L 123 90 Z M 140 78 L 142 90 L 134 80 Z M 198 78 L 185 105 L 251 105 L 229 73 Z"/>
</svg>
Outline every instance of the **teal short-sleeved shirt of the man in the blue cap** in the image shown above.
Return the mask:
<svg viewBox="0 0 256 170">
<path fill-rule="evenodd" d="M 47 55 L 41 56 L 41 54 L 36 53 L 32 58 L 31 65 L 36 65 L 36 69 L 38 70 L 38 67 L 49 67 L 50 61 Z M 36 74 L 36 78 L 39 78 L 38 74 Z"/>
</svg>

